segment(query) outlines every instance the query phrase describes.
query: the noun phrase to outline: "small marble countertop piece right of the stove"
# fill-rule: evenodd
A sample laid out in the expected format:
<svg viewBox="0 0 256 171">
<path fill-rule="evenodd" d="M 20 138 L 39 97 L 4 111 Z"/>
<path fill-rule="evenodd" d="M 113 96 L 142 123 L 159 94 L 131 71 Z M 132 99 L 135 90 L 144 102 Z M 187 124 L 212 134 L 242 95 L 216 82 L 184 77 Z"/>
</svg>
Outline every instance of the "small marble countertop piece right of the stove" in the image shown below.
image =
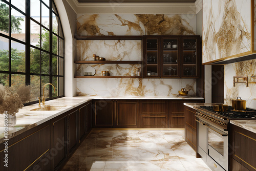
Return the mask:
<svg viewBox="0 0 256 171">
<path fill-rule="evenodd" d="M 230 120 L 230 123 L 256 134 L 256 120 Z"/>
</svg>

